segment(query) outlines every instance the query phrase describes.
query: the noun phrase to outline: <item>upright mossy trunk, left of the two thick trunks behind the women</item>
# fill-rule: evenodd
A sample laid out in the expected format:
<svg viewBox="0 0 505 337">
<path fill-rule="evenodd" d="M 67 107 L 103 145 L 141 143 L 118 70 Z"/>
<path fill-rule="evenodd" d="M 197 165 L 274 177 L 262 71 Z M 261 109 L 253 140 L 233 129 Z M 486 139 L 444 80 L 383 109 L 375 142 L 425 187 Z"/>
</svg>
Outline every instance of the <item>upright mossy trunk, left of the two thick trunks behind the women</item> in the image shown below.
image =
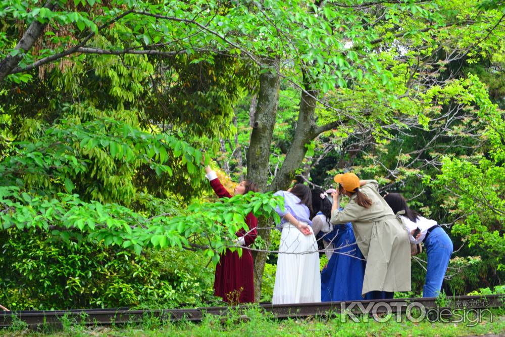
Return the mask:
<svg viewBox="0 0 505 337">
<path fill-rule="evenodd" d="M 279 102 L 280 76 L 279 60 L 269 59 L 266 63 L 272 66 L 274 72 L 266 72 L 260 75 L 260 92 L 252 131 L 247 150 L 247 179 L 255 181 L 260 190 L 265 191 L 268 180 L 268 165 L 270 159 L 270 143 L 274 131 L 275 117 L 277 115 L 277 104 Z M 252 100 L 251 105 L 255 100 Z M 252 111 L 249 109 L 249 111 Z M 265 218 L 258 219 L 258 235 L 270 244 L 270 221 Z M 267 260 L 266 253 L 253 254 L 255 257 L 255 301 L 259 302 L 261 297 L 261 284 L 263 269 Z"/>
</svg>

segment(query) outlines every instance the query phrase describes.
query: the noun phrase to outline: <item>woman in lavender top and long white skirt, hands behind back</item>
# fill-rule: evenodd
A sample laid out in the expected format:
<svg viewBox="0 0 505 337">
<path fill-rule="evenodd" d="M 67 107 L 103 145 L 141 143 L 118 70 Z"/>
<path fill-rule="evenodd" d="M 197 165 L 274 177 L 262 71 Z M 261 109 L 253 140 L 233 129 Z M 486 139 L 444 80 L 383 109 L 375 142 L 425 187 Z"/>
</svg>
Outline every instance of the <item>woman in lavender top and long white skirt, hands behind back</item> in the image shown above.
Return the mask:
<svg viewBox="0 0 505 337">
<path fill-rule="evenodd" d="M 316 237 L 311 228 L 311 190 L 296 184 L 289 191 L 277 191 L 284 198 L 281 240 L 275 273 L 272 304 L 321 302 L 321 278 Z"/>
</svg>

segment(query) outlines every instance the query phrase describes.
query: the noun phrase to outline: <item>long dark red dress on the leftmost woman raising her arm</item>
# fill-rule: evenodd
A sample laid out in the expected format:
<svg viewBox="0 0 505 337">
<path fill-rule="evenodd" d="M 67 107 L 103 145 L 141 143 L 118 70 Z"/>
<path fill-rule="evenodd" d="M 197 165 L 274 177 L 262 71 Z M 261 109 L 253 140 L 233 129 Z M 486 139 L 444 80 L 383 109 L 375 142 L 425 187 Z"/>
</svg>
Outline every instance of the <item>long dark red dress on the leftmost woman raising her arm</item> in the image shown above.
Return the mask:
<svg viewBox="0 0 505 337">
<path fill-rule="evenodd" d="M 219 198 L 231 198 L 231 195 L 218 178 L 211 180 L 211 186 Z M 256 230 L 258 219 L 252 213 L 249 213 L 245 217 L 245 223 L 249 226 L 249 232 L 240 229 L 235 235 L 237 237 L 243 236 L 245 246 L 249 246 L 254 243 L 258 235 Z M 228 303 L 254 302 L 253 267 L 254 260 L 249 250 L 242 249 L 242 257 L 239 257 L 236 251 L 226 250 L 216 265 L 214 295 L 222 297 L 223 301 Z"/>
</svg>

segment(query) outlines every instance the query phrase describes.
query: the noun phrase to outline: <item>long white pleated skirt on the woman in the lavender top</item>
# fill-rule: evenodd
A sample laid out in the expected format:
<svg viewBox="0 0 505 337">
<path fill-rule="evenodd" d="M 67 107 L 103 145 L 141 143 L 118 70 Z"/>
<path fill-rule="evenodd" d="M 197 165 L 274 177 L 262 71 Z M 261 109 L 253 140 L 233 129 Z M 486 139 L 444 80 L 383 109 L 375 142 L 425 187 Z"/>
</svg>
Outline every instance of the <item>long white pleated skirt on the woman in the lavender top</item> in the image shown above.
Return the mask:
<svg viewBox="0 0 505 337">
<path fill-rule="evenodd" d="M 285 223 L 282 228 L 272 304 L 321 302 L 316 237 Z"/>
</svg>

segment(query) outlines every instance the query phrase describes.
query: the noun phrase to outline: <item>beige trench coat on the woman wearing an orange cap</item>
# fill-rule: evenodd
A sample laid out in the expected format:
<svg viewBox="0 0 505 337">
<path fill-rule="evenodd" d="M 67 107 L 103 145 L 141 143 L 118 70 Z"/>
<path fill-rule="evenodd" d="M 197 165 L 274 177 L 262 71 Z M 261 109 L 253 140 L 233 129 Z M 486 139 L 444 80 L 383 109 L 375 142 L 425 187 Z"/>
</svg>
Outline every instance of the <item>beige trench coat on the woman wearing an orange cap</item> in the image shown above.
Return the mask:
<svg viewBox="0 0 505 337">
<path fill-rule="evenodd" d="M 410 291 L 409 234 L 380 196 L 377 181 L 366 181 L 360 191 L 372 200 L 372 206 L 368 209 L 361 207 L 353 195 L 343 210 L 333 212 L 330 222 L 352 223 L 358 247 L 367 260 L 362 296 L 371 291 Z"/>
</svg>

